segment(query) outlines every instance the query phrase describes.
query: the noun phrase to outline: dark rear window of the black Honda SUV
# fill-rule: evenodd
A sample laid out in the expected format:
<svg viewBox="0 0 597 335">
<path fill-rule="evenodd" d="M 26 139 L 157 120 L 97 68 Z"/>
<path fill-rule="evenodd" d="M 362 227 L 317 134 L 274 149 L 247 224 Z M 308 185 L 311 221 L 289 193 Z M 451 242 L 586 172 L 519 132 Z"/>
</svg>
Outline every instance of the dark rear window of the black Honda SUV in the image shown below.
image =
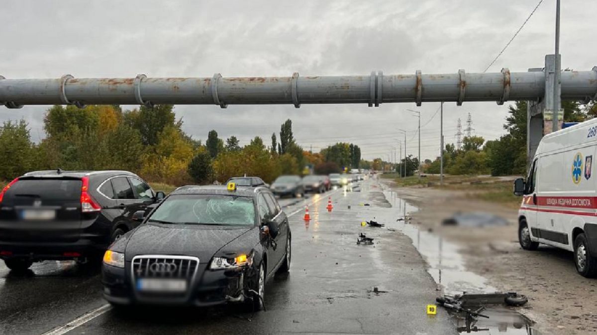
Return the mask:
<svg viewBox="0 0 597 335">
<path fill-rule="evenodd" d="M 36 197 L 52 200 L 78 200 L 81 198 L 81 179 L 19 179 L 8 189 L 4 200 L 18 197 Z"/>
</svg>

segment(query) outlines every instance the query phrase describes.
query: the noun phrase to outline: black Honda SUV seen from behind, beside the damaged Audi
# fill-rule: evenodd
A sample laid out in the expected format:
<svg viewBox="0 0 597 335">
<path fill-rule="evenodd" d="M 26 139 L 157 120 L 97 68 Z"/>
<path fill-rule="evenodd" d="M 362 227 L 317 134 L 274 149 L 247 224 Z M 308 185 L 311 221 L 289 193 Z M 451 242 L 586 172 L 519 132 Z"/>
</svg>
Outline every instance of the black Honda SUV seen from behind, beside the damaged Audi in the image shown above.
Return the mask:
<svg viewBox="0 0 597 335">
<path fill-rule="evenodd" d="M 127 171 L 36 171 L 0 193 L 0 258 L 23 271 L 41 260 L 101 260 L 164 198 Z"/>
</svg>

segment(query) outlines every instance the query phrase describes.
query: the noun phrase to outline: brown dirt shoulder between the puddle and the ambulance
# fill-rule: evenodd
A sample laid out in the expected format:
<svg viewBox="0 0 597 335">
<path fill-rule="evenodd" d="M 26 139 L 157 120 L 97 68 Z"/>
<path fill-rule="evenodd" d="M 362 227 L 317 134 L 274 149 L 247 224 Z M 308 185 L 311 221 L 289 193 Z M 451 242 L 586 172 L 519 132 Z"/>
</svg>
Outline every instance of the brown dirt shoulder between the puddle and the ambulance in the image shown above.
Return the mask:
<svg viewBox="0 0 597 335">
<path fill-rule="evenodd" d="M 502 291 L 526 294 L 523 314 L 549 334 L 586 334 L 597 331 L 597 280 L 577 274 L 573 254 L 549 246 L 537 252 L 518 244 L 518 211 L 511 203 L 478 200 L 461 190 L 430 187 L 397 187 L 380 179 L 420 210 L 413 222 L 432 228 L 461 247 L 469 271 L 487 278 Z M 481 198 L 481 197 L 479 197 Z M 487 212 L 507 219 L 500 227 L 442 226 L 456 212 Z"/>
</svg>

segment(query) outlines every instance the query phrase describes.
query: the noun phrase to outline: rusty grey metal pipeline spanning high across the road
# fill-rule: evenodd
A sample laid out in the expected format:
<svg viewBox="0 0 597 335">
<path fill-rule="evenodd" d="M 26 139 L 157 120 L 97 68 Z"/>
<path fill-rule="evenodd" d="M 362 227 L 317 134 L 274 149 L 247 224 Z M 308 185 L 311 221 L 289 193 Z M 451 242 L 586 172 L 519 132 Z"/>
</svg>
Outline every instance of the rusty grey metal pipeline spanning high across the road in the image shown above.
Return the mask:
<svg viewBox="0 0 597 335">
<path fill-rule="evenodd" d="M 562 72 L 562 99 L 597 97 L 597 67 Z M 211 78 L 75 78 L 5 79 L 0 76 L 0 103 L 23 105 L 73 104 L 358 104 L 432 101 L 540 100 L 545 92 L 543 70 L 498 73 L 425 75 L 222 77 Z"/>
</svg>

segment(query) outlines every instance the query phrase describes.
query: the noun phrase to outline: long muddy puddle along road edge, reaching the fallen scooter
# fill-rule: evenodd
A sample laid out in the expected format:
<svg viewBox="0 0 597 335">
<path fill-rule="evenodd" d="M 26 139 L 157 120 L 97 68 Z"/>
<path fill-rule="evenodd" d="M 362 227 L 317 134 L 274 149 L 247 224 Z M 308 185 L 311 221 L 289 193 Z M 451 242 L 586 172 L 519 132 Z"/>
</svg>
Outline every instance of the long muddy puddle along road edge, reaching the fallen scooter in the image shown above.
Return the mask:
<svg viewBox="0 0 597 335">
<path fill-rule="evenodd" d="M 416 247 L 429 265 L 427 271 L 438 285 L 438 296 L 441 295 L 439 293 L 454 295 L 463 292 L 483 294 L 498 291 L 495 287 L 487 284 L 487 278 L 467 271 L 464 266 L 464 258 L 458 252 L 459 248 L 456 244 L 444 240 L 433 231 L 425 230 L 410 218 L 410 215 L 417 212 L 418 208 L 416 206 L 398 197 L 394 191 L 384 190 L 383 196 L 393 208 L 386 212 L 390 214 L 389 216 L 378 217 L 379 221 L 386 224 L 386 229 L 396 229 L 411 238 L 413 246 Z M 372 200 L 385 204 L 385 201 L 381 200 L 376 194 L 373 195 Z M 475 306 L 471 309 L 481 307 Z M 487 315 L 489 318 L 478 317 L 467 320 L 464 312 L 450 311 L 450 314 L 453 316 L 459 333 L 542 334 L 533 327 L 535 322 L 506 305 L 485 306 L 482 314 Z"/>
</svg>

